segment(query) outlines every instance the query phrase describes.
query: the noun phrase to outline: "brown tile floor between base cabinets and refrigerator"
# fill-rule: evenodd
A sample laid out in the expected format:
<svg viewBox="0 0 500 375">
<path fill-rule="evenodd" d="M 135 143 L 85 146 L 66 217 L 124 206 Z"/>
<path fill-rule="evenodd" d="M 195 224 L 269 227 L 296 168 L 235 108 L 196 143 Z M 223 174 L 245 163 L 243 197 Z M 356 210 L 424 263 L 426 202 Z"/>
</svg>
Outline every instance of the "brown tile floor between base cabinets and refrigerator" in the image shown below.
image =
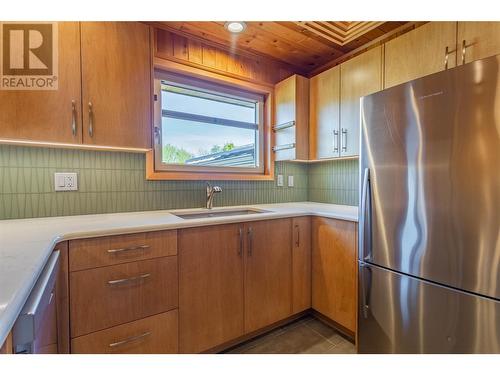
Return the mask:
<svg viewBox="0 0 500 375">
<path fill-rule="evenodd" d="M 234 346 L 228 354 L 355 354 L 354 344 L 307 316 Z"/>
</svg>

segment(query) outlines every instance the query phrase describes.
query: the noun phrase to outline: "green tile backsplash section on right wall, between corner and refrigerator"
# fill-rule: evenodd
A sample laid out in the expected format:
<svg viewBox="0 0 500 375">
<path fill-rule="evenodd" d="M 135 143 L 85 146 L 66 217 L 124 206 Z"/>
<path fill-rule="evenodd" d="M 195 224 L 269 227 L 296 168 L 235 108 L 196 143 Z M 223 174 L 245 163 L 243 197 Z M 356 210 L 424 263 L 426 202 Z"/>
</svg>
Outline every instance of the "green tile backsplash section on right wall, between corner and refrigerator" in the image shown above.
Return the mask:
<svg viewBox="0 0 500 375">
<path fill-rule="evenodd" d="M 358 205 L 358 159 L 330 160 L 309 165 L 312 202 Z"/>
</svg>

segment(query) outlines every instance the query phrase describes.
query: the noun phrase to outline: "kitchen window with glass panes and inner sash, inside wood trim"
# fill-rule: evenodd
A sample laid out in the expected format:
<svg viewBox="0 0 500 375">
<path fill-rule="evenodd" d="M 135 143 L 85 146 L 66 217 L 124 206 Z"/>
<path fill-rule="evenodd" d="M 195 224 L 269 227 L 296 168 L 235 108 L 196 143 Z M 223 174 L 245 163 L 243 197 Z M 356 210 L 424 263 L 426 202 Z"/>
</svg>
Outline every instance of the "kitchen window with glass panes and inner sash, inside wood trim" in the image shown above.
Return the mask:
<svg viewBox="0 0 500 375">
<path fill-rule="evenodd" d="M 157 73 L 155 170 L 264 173 L 264 96 Z"/>
</svg>

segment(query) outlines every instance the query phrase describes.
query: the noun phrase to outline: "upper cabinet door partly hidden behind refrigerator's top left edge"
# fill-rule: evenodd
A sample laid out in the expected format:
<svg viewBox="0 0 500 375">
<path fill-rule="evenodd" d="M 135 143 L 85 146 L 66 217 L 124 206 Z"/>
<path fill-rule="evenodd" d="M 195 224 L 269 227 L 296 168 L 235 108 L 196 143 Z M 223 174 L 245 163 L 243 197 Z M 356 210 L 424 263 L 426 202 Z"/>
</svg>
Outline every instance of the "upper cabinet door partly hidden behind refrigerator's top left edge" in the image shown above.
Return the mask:
<svg viewBox="0 0 500 375">
<path fill-rule="evenodd" d="M 340 156 L 356 156 L 360 98 L 382 89 L 382 46 L 341 64 L 340 80 Z"/>
</svg>

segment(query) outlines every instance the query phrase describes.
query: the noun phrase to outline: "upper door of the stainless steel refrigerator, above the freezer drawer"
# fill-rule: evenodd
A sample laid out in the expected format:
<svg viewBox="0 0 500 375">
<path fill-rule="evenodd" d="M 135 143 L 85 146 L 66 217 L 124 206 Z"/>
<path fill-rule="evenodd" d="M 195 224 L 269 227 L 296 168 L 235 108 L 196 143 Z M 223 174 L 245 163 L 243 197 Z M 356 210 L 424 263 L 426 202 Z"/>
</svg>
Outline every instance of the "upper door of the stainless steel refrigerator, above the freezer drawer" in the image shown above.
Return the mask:
<svg viewBox="0 0 500 375">
<path fill-rule="evenodd" d="M 360 259 L 500 299 L 499 67 L 362 98 Z"/>
</svg>

